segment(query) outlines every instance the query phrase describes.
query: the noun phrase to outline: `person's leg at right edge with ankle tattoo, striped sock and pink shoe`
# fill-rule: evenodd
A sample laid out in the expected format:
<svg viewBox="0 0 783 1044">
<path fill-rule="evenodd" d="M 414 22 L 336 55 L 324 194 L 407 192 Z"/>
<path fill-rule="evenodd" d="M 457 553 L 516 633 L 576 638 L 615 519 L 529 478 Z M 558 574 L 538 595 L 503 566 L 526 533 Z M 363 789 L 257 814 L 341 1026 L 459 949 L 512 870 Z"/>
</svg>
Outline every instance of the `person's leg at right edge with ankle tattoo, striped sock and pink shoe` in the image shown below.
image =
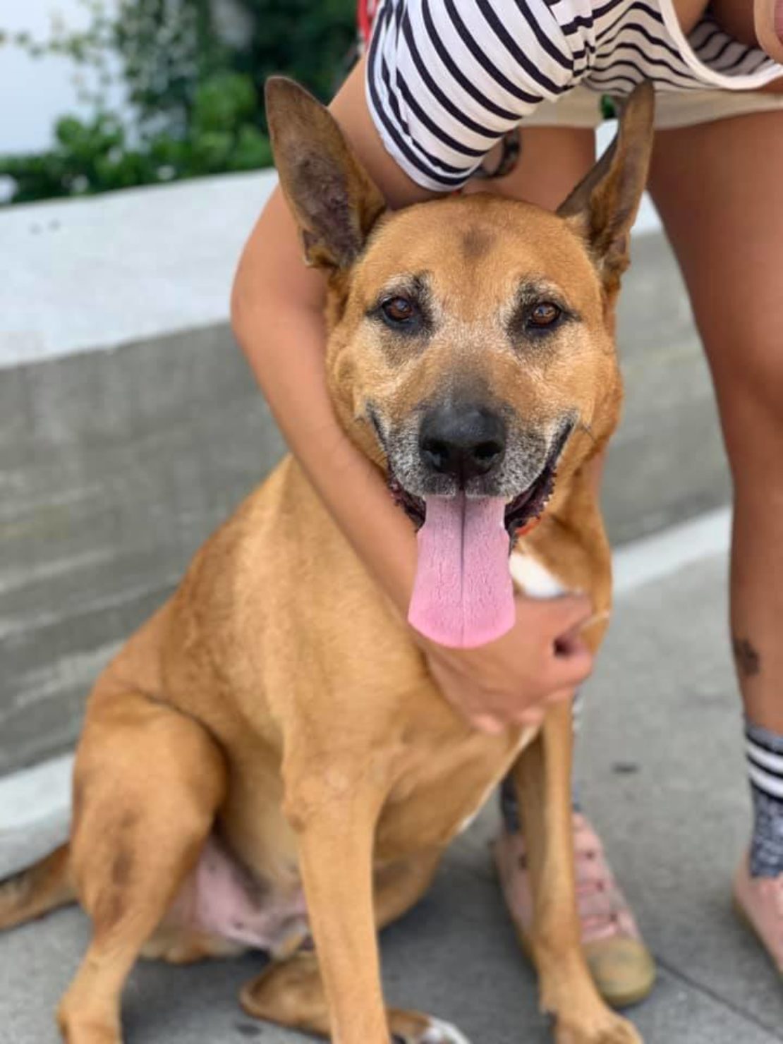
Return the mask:
<svg viewBox="0 0 783 1044">
<path fill-rule="evenodd" d="M 781 170 L 783 112 L 759 113 L 661 133 L 651 188 L 707 350 L 734 482 L 731 634 L 755 810 L 735 892 L 783 969 Z"/>
</svg>

